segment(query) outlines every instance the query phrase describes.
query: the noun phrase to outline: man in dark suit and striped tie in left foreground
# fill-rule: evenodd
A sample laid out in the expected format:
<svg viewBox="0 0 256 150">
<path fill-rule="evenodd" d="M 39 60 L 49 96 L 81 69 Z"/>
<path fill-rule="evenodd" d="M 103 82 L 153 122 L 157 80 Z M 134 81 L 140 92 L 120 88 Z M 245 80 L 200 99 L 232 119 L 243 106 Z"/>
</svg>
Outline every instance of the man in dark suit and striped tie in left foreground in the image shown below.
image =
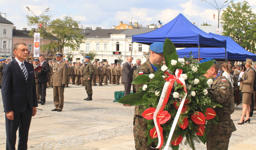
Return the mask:
<svg viewBox="0 0 256 150">
<path fill-rule="evenodd" d="M 27 149 L 29 126 L 37 112 L 34 66 L 26 62 L 28 48 L 25 43 L 14 45 L 15 59 L 3 69 L 2 98 L 5 112 L 6 149 L 15 150 L 19 128 L 18 149 Z"/>
</svg>

